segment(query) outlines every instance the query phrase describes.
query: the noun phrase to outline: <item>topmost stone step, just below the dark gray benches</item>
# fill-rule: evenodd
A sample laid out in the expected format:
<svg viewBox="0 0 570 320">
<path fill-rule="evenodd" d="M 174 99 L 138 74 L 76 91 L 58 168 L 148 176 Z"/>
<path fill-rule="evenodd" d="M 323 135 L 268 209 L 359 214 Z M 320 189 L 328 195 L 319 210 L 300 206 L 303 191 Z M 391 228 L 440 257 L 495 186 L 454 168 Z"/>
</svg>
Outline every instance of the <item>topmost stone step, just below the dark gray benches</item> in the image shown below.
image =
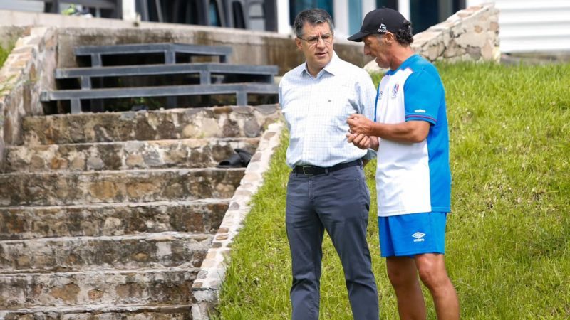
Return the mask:
<svg viewBox="0 0 570 320">
<path fill-rule="evenodd" d="M 100 112 L 26 117 L 24 141 L 77 144 L 130 140 L 259 137 L 279 119 L 279 105 Z"/>
</svg>

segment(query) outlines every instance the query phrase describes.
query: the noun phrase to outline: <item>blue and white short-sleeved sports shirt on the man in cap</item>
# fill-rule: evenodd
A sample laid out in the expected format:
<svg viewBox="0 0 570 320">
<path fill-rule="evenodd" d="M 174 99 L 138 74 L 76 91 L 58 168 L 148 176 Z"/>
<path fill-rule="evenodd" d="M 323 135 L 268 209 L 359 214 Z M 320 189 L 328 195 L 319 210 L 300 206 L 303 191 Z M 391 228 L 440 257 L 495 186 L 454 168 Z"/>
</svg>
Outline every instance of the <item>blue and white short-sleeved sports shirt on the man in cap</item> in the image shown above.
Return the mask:
<svg viewBox="0 0 570 320">
<path fill-rule="evenodd" d="M 451 210 L 445 91 L 435 67 L 419 55 L 385 74 L 375 106 L 376 122 L 411 120 L 431 124 L 423 142 L 380 139 L 376 171 L 380 217 Z"/>
</svg>

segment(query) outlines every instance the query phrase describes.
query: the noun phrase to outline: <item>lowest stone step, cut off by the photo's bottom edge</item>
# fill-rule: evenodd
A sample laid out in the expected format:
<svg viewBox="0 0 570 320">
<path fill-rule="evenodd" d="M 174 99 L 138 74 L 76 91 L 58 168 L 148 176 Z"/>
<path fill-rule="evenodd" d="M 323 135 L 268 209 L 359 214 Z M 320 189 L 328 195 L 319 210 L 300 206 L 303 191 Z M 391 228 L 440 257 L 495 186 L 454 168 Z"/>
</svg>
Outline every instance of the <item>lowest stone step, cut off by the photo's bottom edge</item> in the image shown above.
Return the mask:
<svg viewBox="0 0 570 320">
<path fill-rule="evenodd" d="M 1 307 L 0 307 L 1 308 Z M 41 306 L 1 310 L 4 320 L 192 320 L 191 304 L 123 304 L 103 306 Z"/>
</svg>

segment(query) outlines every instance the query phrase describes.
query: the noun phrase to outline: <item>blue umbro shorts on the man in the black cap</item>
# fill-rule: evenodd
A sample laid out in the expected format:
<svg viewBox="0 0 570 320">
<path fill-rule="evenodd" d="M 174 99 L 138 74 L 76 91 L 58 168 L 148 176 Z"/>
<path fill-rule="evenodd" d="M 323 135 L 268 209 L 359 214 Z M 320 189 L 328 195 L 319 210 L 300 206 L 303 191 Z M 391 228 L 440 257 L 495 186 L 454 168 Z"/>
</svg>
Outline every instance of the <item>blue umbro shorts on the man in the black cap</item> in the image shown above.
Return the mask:
<svg viewBox="0 0 570 320">
<path fill-rule="evenodd" d="M 380 255 L 414 256 L 445 253 L 447 213 L 412 213 L 378 217 Z"/>
</svg>

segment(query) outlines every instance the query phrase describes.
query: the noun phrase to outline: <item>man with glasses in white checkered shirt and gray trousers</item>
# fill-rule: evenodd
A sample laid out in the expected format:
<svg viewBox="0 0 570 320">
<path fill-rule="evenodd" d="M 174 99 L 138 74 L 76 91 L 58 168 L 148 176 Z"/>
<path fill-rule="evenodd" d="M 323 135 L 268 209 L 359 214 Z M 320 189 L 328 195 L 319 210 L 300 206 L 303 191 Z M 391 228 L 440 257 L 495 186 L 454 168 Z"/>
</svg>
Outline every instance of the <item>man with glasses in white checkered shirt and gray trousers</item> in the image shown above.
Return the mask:
<svg viewBox="0 0 570 320">
<path fill-rule="evenodd" d="M 305 63 L 279 83 L 289 128 L 286 230 L 291 249 L 291 319 L 318 320 L 322 242 L 330 235 L 343 265 L 353 318 L 378 320 L 378 292 L 366 242 L 370 193 L 363 159 L 373 152 L 346 143 L 346 118 L 372 117 L 370 75 L 333 50 L 331 16 L 322 9 L 295 18 Z M 368 156 L 368 158 L 367 158 Z"/>
</svg>

